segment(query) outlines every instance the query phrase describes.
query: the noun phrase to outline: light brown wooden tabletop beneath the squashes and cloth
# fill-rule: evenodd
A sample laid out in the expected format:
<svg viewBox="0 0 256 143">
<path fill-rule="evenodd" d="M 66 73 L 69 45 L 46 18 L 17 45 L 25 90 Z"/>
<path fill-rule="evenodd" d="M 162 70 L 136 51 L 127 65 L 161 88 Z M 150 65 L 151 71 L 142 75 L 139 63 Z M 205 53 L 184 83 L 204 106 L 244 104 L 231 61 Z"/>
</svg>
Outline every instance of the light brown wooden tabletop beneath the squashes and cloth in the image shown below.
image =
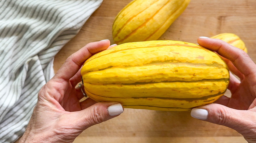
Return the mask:
<svg viewBox="0 0 256 143">
<path fill-rule="evenodd" d="M 131 0 L 104 0 L 75 38 L 55 56 L 57 71 L 65 59 L 89 42 L 112 38 L 117 13 Z M 191 0 L 159 40 L 196 43 L 199 36 L 230 32 L 244 40 L 256 61 L 255 0 Z M 230 95 L 230 93 L 226 93 Z M 225 126 L 194 119 L 189 112 L 125 109 L 117 118 L 92 126 L 75 143 L 243 143 L 242 135 Z"/>
</svg>

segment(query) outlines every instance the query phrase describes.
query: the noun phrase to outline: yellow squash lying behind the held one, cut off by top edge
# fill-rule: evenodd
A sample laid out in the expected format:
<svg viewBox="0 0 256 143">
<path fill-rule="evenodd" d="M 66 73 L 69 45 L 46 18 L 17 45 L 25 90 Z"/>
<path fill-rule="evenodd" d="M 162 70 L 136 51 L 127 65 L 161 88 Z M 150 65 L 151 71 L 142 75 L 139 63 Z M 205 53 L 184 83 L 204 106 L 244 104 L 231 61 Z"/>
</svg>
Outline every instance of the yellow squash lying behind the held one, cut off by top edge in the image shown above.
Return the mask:
<svg viewBox="0 0 256 143">
<path fill-rule="evenodd" d="M 190 0 L 134 0 L 117 15 L 116 44 L 157 40 L 185 10 Z"/>
</svg>

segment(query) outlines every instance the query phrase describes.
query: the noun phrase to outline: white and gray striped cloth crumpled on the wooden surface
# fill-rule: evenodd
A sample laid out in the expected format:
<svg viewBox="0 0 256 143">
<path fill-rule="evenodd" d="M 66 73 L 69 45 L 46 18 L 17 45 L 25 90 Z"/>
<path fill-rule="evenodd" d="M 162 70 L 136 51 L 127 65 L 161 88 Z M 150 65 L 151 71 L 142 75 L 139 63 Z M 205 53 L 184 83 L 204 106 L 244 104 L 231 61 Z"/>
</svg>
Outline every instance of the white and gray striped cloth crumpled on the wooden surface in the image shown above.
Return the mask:
<svg viewBox="0 0 256 143">
<path fill-rule="evenodd" d="M 0 142 L 25 131 L 53 58 L 103 0 L 0 0 Z"/>
</svg>

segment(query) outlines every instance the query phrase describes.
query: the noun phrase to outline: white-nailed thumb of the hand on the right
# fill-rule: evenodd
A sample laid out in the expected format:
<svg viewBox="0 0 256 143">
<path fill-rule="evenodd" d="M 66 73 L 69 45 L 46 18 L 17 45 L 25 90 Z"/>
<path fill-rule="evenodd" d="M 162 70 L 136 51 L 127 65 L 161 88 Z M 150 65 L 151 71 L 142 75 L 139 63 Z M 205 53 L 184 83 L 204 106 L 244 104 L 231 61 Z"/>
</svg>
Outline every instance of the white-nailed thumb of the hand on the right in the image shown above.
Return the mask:
<svg viewBox="0 0 256 143">
<path fill-rule="evenodd" d="M 239 132 L 245 128 L 247 110 L 236 110 L 221 104 L 208 104 L 193 108 L 190 115 L 196 119 L 202 119 L 211 123 L 224 125 Z"/>
</svg>

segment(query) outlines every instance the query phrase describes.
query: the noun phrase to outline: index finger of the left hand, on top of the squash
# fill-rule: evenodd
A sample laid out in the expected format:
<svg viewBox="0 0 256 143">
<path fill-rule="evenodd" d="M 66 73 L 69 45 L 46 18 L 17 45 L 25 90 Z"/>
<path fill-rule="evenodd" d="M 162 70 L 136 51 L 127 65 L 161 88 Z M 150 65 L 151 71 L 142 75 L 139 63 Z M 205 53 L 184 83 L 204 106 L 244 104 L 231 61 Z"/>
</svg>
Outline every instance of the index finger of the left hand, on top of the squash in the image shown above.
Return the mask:
<svg viewBox="0 0 256 143">
<path fill-rule="evenodd" d="M 100 51 L 106 50 L 109 45 L 109 40 L 88 43 L 86 46 L 69 56 L 53 78 L 61 81 L 69 81 L 70 78 L 79 71 L 86 59 Z"/>
</svg>

